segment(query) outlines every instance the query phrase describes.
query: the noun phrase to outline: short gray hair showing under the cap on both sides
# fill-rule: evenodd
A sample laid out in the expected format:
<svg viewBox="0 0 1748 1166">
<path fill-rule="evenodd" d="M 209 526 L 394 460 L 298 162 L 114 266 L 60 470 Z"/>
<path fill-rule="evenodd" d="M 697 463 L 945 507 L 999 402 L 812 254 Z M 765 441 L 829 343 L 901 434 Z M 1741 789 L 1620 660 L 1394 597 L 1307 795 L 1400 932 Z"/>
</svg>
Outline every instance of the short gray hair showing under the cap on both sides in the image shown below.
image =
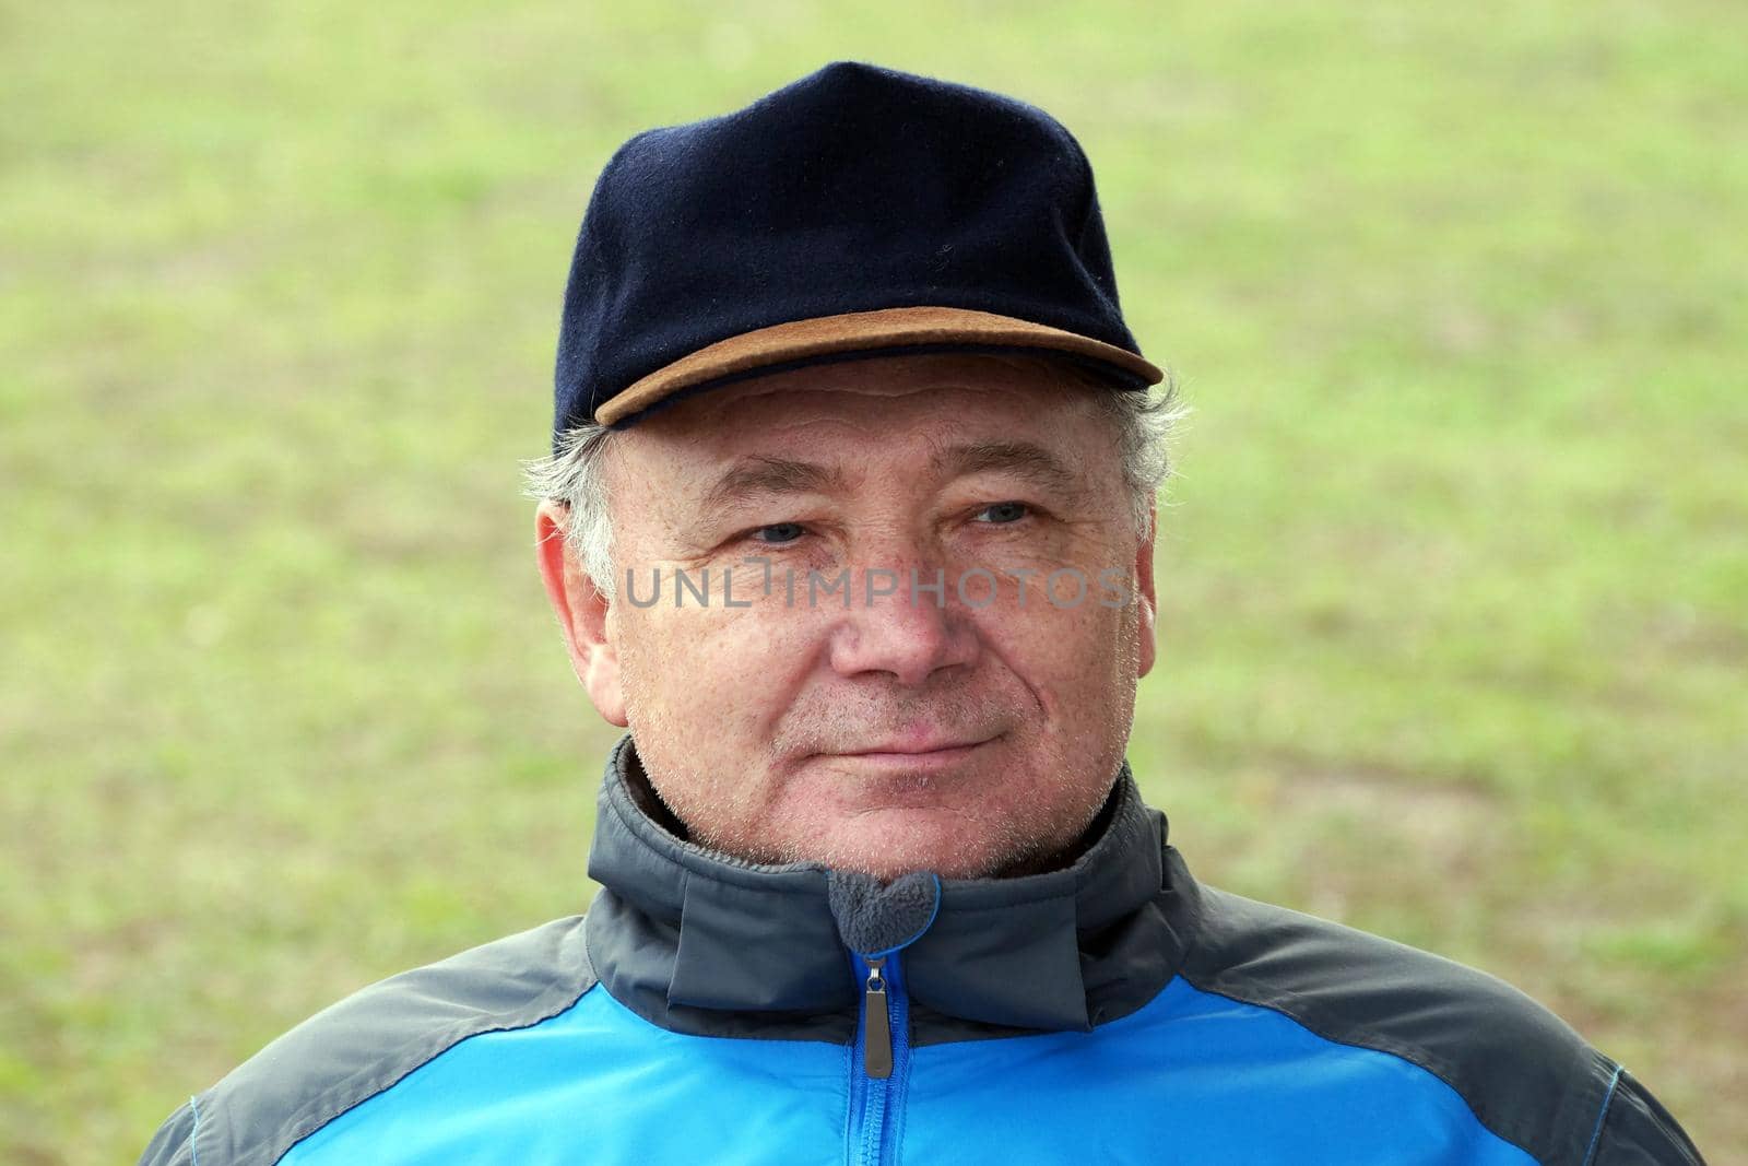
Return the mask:
<svg viewBox="0 0 1748 1166">
<path fill-rule="evenodd" d="M 1054 365 L 1056 362 L 1052 362 Z M 1169 437 L 1190 407 L 1178 399 L 1178 383 L 1168 372 L 1154 393 L 1110 392 L 1079 365 L 1059 365 L 1070 378 L 1094 390 L 1094 402 L 1117 434 L 1117 460 L 1129 488 L 1129 516 L 1138 538 L 1152 531 L 1152 505 L 1171 477 Z M 526 489 L 537 502 L 554 502 L 570 514 L 565 544 L 608 600 L 614 598 L 614 524 L 608 514 L 607 455 L 614 430 L 584 421 L 559 434 L 551 456 L 523 463 Z"/>
</svg>

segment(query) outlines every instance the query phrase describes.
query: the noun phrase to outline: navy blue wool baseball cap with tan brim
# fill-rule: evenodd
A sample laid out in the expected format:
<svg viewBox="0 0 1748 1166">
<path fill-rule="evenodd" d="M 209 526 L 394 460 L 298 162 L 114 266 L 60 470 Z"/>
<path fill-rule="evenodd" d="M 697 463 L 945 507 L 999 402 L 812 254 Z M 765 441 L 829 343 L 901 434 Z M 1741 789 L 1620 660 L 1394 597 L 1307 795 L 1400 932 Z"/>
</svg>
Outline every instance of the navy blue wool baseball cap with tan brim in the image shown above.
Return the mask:
<svg viewBox="0 0 1748 1166">
<path fill-rule="evenodd" d="M 1016 350 L 1162 379 L 1122 322 L 1080 143 L 1024 101 L 837 61 L 607 163 L 552 434 L 822 360 Z"/>
</svg>

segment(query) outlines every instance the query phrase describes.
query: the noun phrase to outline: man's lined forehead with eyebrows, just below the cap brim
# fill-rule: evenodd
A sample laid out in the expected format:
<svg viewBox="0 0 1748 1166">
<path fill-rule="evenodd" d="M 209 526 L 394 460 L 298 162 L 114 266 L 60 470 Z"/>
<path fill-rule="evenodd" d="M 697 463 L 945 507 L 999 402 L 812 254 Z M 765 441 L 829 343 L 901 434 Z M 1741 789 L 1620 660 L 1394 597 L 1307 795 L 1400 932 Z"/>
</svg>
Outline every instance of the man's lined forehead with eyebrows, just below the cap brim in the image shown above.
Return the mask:
<svg viewBox="0 0 1748 1166">
<path fill-rule="evenodd" d="M 855 360 L 720 386 L 615 435 L 615 521 L 680 530 L 778 495 L 921 498 L 968 474 L 1026 479 L 1070 509 L 1115 510 L 1117 432 L 1098 407 L 1110 392 L 1056 360 L 982 353 Z"/>
</svg>

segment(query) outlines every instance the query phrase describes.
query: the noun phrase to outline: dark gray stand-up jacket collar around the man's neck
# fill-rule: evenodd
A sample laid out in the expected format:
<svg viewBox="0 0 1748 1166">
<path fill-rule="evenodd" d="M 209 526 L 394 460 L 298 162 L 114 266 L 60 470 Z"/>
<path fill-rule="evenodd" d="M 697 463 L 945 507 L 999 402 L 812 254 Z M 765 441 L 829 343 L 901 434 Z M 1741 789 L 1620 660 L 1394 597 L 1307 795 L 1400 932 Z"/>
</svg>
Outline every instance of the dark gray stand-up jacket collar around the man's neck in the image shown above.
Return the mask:
<svg viewBox="0 0 1748 1166">
<path fill-rule="evenodd" d="M 603 986 L 664 1028 L 848 1040 L 858 977 L 834 916 L 853 899 L 809 864 L 759 865 L 678 837 L 640 808 L 631 734 L 601 785 L 589 954 Z M 918 1044 L 967 1026 L 1089 1030 L 1150 1000 L 1180 965 L 1196 885 L 1127 762 L 1096 837 L 1059 871 L 940 879 L 902 951 Z"/>
</svg>

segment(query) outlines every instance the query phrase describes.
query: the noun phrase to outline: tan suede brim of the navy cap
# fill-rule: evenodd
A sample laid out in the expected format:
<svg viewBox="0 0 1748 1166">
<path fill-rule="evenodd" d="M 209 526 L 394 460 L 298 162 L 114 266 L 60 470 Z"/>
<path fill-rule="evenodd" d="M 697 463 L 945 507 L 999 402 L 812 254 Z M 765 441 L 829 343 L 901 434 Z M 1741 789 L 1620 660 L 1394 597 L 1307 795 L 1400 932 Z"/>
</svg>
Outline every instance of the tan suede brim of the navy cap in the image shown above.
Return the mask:
<svg viewBox="0 0 1748 1166">
<path fill-rule="evenodd" d="M 1134 355 L 1091 336 L 967 308 L 883 308 L 776 323 L 731 336 L 633 381 L 594 411 L 598 425 L 615 425 L 689 388 L 771 365 L 874 350 L 919 346 L 1038 348 L 1110 365 L 1157 385 L 1164 372 Z"/>
</svg>

